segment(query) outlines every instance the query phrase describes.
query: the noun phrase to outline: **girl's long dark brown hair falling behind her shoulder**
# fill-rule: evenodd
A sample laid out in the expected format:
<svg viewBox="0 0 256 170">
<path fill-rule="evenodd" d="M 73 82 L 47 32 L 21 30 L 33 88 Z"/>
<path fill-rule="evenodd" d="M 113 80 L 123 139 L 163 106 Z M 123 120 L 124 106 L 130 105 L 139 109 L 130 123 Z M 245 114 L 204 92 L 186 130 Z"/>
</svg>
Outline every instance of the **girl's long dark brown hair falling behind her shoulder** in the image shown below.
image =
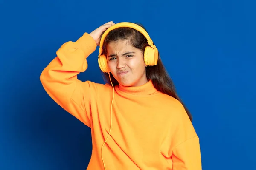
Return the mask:
<svg viewBox="0 0 256 170">
<path fill-rule="evenodd" d="M 136 24 L 144 28 L 142 24 L 140 23 L 136 23 Z M 140 49 L 143 52 L 143 55 L 144 55 L 145 47 L 148 46 L 147 39 L 139 31 L 132 28 L 127 28 L 127 27 L 116 28 L 114 30 L 111 30 L 106 36 L 102 46 L 102 49 L 103 49 L 102 54 L 105 54 L 105 55 L 107 54 L 106 45 L 108 43 L 118 42 L 120 40 L 129 40 L 131 45 L 133 45 L 135 48 Z M 104 73 L 103 75 L 104 75 L 105 82 L 111 85 L 108 73 Z M 188 114 L 189 119 L 192 122 L 192 115 L 189 112 L 189 110 L 186 108 L 182 100 L 177 95 L 175 85 L 171 77 L 168 75 L 159 54 L 158 54 L 157 65 L 146 67 L 146 76 L 148 80 L 152 81 L 154 88 L 156 88 L 158 91 L 179 100 L 180 103 L 185 108 L 186 113 Z M 118 85 L 117 80 L 113 77 L 111 73 L 110 73 L 110 77 L 113 85 L 114 86 Z"/>
</svg>

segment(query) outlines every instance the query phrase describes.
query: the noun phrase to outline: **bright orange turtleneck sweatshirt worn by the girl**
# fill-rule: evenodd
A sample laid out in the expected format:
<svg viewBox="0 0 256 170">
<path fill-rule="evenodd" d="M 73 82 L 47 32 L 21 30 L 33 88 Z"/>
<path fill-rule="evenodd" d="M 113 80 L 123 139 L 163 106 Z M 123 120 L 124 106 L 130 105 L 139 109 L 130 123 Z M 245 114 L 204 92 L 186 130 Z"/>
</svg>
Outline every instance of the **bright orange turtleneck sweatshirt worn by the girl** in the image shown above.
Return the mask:
<svg viewBox="0 0 256 170">
<path fill-rule="evenodd" d="M 201 170 L 199 138 L 183 105 L 151 81 L 114 87 L 112 128 L 101 155 L 111 125 L 113 88 L 77 79 L 95 50 L 96 42 L 84 33 L 64 43 L 40 76 L 49 96 L 91 128 L 87 170 L 104 170 L 101 156 L 106 170 Z"/>
</svg>

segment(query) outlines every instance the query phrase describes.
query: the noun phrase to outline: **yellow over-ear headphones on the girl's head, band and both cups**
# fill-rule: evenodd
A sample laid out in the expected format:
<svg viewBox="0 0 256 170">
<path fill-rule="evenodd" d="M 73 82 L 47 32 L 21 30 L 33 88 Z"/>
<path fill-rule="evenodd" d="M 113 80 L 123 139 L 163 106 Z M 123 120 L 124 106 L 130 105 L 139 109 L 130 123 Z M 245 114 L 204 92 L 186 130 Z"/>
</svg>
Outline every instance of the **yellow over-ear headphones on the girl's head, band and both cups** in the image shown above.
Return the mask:
<svg viewBox="0 0 256 170">
<path fill-rule="evenodd" d="M 102 72 L 104 73 L 109 73 L 110 70 L 108 68 L 108 62 L 107 62 L 107 57 L 105 55 L 101 55 L 102 53 L 102 46 L 105 40 L 105 37 L 108 35 L 109 31 L 120 28 L 120 27 L 128 27 L 128 28 L 133 28 L 137 31 L 140 31 L 141 34 L 144 35 L 144 37 L 148 40 L 148 45 L 145 48 L 144 51 L 144 62 L 145 65 L 157 65 L 157 60 L 158 60 L 158 50 L 155 45 L 153 45 L 153 41 L 149 37 L 147 31 L 143 29 L 141 26 L 134 24 L 134 23 L 128 23 L 128 22 L 122 22 L 122 23 L 116 23 L 115 25 L 111 26 L 108 28 L 102 35 L 100 43 L 99 43 L 99 58 L 98 58 L 98 63 L 99 63 L 99 68 L 101 69 Z"/>
</svg>

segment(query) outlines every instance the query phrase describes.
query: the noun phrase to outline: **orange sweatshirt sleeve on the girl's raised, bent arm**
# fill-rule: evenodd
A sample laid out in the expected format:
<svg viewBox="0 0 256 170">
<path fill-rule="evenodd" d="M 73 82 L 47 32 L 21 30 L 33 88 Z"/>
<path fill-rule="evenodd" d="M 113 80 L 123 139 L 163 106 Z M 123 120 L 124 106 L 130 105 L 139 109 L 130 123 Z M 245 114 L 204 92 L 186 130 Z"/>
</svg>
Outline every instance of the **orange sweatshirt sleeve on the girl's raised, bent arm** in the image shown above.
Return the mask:
<svg viewBox="0 0 256 170">
<path fill-rule="evenodd" d="M 90 86 L 77 79 L 87 69 L 86 58 L 96 50 L 96 42 L 84 33 L 76 42 L 66 42 L 42 71 L 40 81 L 49 96 L 88 127 L 91 126 Z"/>
</svg>

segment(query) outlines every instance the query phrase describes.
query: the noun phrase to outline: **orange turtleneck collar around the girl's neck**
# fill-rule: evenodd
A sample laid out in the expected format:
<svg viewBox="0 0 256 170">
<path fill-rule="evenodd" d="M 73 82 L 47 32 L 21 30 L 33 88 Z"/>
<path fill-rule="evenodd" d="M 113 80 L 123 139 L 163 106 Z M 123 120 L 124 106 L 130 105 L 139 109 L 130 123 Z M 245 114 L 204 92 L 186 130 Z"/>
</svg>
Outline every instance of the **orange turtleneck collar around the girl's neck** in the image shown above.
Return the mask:
<svg viewBox="0 0 256 170">
<path fill-rule="evenodd" d="M 126 87 L 123 85 L 118 85 L 117 88 L 119 88 L 120 91 L 123 91 L 125 93 L 137 95 L 150 95 L 157 91 L 157 89 L 154 88 L 154 85 L 151 80 L 149 80 L 147 83 L 141 86 Z"/>
</svg>

